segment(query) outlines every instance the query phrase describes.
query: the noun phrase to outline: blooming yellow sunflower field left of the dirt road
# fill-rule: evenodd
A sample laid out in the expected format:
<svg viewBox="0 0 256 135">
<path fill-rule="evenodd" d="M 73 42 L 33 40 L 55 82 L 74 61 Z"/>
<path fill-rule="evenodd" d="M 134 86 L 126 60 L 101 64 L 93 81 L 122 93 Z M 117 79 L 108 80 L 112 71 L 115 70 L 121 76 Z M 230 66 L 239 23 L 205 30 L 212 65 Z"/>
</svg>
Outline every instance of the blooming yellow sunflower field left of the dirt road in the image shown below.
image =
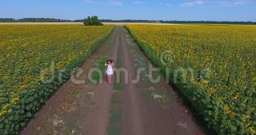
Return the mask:
<svg viewBox="0 0 256 135">
<path fill-rule="evenodd" d="M 113 25 L 0 25 L 0 135 L 18 134 Z"/>
</svg>

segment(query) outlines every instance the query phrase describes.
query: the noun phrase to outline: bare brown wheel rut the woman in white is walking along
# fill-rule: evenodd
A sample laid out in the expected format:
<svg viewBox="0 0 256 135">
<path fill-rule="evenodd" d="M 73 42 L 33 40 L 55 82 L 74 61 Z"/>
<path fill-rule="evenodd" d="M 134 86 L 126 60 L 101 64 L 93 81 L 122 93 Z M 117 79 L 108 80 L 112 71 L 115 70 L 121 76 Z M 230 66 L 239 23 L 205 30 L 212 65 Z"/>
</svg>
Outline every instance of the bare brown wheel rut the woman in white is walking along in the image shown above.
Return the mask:
<svg viewBox="0 0 256 135">
<path fill-rule="evenodd" d="M 119 43 L 120 28 L 117 28 L 117 34 L 111 53 L 111 59 L 117 61 L 117 47 Z M 115 63 L 114 63 L 115 64 Z M 105 72 L 103 71 L 103 74 Z M 103 75 L 105 76 L 105 75 Z M 109 124 L 109 106 L 112 97 L 113 86 L 109 85 L 106 79 L 103 79 L 102 84 L 95 87 L 94 94 L 97 95 L 97 110 L 90 113 L 87 119 L 84 120 L 83 128 L 85 135 L 106 135 Z"/>
</svg>

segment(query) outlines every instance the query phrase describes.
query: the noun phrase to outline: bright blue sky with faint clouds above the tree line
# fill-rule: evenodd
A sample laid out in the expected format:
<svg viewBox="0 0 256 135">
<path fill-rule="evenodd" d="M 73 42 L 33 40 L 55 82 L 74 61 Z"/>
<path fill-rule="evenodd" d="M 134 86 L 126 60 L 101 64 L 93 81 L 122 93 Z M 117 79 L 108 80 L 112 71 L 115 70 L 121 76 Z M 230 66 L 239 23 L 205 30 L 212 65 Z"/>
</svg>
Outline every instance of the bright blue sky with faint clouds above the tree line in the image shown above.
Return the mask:
<svg viewBox="0 0 256 135">
<path fill-rule="evenodd" d="M 256 22 L 256 0 L 0 0 L 0 18 Z"/>
</svg>

